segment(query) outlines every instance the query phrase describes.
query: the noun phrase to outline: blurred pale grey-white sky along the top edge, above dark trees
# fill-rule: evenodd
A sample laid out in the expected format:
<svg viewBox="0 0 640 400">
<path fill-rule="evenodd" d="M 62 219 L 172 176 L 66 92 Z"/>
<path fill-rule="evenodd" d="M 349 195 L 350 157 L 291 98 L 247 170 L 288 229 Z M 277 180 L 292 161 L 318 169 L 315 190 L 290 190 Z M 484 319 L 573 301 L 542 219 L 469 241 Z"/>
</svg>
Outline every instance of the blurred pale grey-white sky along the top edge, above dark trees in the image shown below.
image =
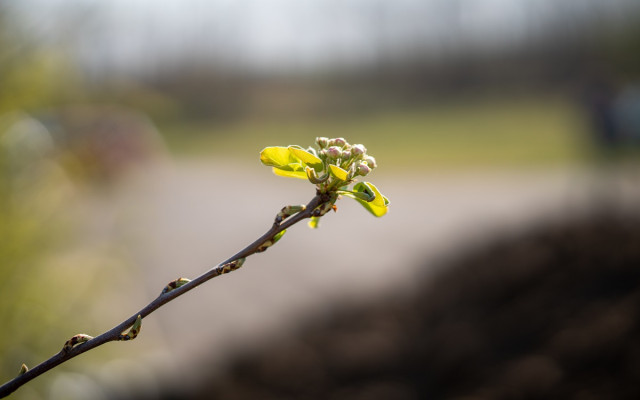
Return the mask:
<svg viewBox="0 0 640 400">
<path fill-rule="evenodd" d="M 3 2 L 6 0 L 0 0 Z M 560 18 L 624 18 L 636 0 L 22 0 L 26 29 L 91 68 L 152 71 L 185 58 L 309 70 L 381 53 L 438 57 L 517 45 Z M 625 8 L 626 5 L 626 8 Z M 636 7 L 638 8 L 638 7 Z M 557 24 L 556 24 L 557 25 Z"/>
</svg>

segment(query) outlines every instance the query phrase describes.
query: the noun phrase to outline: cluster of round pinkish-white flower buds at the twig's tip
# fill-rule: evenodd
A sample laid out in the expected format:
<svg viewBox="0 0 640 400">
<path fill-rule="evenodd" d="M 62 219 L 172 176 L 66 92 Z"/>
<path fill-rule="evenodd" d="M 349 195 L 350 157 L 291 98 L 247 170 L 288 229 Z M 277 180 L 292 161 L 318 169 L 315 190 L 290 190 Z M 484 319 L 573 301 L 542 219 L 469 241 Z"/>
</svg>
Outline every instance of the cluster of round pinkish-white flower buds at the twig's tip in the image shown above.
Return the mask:
<svg viewBox="0 0 640 400">
<path fill-rule="evenodd" d="M 349 144 L 344 138 L 316 138 L 320 151 L 315 152 L 325 164 L 335 165 L 349 172 L 350 179 L 366 176 L 374 169 L 376 159 L 367 155 L 367 149 L 361 144 Z M 310 149 L 311 150 L 311 149 Z"/>
</svg>

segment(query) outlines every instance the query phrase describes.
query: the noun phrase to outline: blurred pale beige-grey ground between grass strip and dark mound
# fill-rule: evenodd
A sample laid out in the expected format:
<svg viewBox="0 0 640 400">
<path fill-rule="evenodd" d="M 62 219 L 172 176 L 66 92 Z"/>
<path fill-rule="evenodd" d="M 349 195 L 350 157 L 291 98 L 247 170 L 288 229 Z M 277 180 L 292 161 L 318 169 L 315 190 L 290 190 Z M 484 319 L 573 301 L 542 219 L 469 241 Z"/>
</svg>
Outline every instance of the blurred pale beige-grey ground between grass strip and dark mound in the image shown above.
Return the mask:
<svg viewBox="0 0 640 400">
<path fill-rule="evenodd" d="M 228 169 L 233 175 L 224 173 Z M 144 364 L 169 387 L 198 384 L 204 371 L 224 371 L 228 357 L 282 340 L 327 307 L 377 304 L 415 289 L 417 277 L 443 266 L 442 257 L 466 254 L 474 244 L 601 207 L 633 210 L 640 194 L 636 174 L 618 171 L 612 180 L 585 169 L 554 169 L 372 177 L 392 199 L 387 216 L 376 220 L 343 199 L 319 230 L 292 228 L 241 270 L 146 318 L 143 348 L 128 345 L 128 381 L 136 381 Z M 246 191 L 236 189 L 238 180 Z M 110 299 L 102 307 L 134 310 L 170 280 L 213 266 L 261 234 L 282 199 L 306 202 L 306 186 L 231 161 L 178 160 L 139 170 L 108 198 L 87 202 L 87 215 L 96 207 L 111 216 L 93 234 L 111 229 L 139 266 L 131 271 L 135 295 L 123 292 L 122 304 Z M 142 358 L 132 362 L 138 352 Z"/>
</svg>

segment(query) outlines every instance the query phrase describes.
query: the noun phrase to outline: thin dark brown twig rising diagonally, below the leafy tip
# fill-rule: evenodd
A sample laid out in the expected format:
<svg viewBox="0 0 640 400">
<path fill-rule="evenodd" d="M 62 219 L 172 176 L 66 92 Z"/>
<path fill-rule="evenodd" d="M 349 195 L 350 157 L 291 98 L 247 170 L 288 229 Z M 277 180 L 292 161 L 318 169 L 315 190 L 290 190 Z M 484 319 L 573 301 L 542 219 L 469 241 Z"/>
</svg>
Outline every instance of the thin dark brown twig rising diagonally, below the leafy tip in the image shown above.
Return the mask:
<svg viewBox="0 0 640 400">
<path fill-rule="evenodd" d="M 238 253 L 231 256 L 229 259 L 223 261 L 222 263 L 218 264 L 217 266 L 211 268 L 207 272 L 193 279 L 192 281 L 187 282 L 182 286 L 176 287 L 173 290 L 170 290 L 167 292 L 163 291 L 163 293 L 161 293 L 155 300 L 147 304 L 144 308 L 142 308 L 140 311 L 133 314 L 131 317 L 129 317 L 119 325 L 113 327 L 107 332 L 100 334 L 99 336 L 96 336 L 95 338 L 91 338 L 88 341 L 85 341 L 86 339 L 83 339 L 80 341 L 76 340 L 74 342 L 70 341 L 71 343 L 68 342 L 69 344 L 68 345 L 65 344 L 65 346 L 63 347 L 62 350 L 60 350 L 59 353 L 55 354 L 48 360 L 43 361 L 42 363 L 38 364 L 32 369 L 25 370 L 26 367 L 23 365 L 23 369 L 20 375 L 6 382 L 4 385 L 0 386 L 0 398 L 10 395 L 14 391 L 16 391 L 19 387 L 31 381 L 32 379 L 42 375 L 43 373 L 49 371 L 50 369 L 66 361 L 69 361 L 70 359 L 76 356 L 79 356 L 80 354 L 86 351 L 94 349 L 107 342 L 112 342 L 117 340 L 128 340 L 127 338 L 133 339 L 137 334 L 137 330 L 134 332 L 133 335 L 131 333 L 129 335 L 123 335 L 122 332 L 130 328 L 131 326 L 133 326 L 139 317 L 144 318 L 147 315 L 154 312 L 155 310 L 157 310 L 158 308 L 162 307 L 164 304 L 172 301 L 173 299 L 179 296 L 182 296 L 183 294 L 205 283 L 206 281 L 212 278 L 215 278 L 217 276 L 220 276 L 224 273 L 233 271 L 234 269 L 237 269 L 239 265 L 230 267 L 230 263 L 237 262 L 238 260 L 244 259 L 254 253 L 264 251 L 266 247 L 273 244 L 274 237 L 278 233 L 302 221 L 305 218 L 309 218 L 311 216 L 317 215 L 318 210 L 316 209 L 326 204 L 328 201 L 330 201 L 330 199 L 327 197 L 327 195 L 317 194 L 313 199 L 311 199 L 309 204 L 306 205 L 306 208 L 304 208 L 304 210 L 298 212 L 297 214 L 294 214 L 289 218 L 287 218 L 286 215 L 282 216 L 281 214 L 278 214 L 279 216 L 276 217 L 276 221 L 274 222 L 271 229 L 269 229 L 264 235 L 260 236 L 260 238 L 256 239 L 253 243 L 251 243 L 244 249 L 240 250 Z M 124 336 L 126 337 L 123 338 Z M 75 343 L 81 343 L 81 344 L 75 345 Z"/>
</svg>

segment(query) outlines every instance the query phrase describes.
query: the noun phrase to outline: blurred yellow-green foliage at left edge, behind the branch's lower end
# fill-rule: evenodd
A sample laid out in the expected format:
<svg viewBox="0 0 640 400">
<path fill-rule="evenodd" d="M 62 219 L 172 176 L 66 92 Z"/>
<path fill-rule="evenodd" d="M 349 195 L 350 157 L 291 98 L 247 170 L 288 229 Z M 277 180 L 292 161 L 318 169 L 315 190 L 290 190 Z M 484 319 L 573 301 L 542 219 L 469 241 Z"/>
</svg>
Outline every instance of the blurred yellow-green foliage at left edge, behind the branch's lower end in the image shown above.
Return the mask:
<svg viewBox="0 0 640 400">
<path fill-rule="evenodd" d="M 97 331 L 104 316 L 95 312 L 103 298 L 98 289 L 118 275 L 113 256 L 79 238 L 82 198 L 55 150 L 36 119 L 21 112 L 0 117 L 2 382 L 15 377 L 22 363 L 44 361 L 80 330 Z M 43 396 L 55 378 L 30 383 L 16 399 Z"/>
</svg>

